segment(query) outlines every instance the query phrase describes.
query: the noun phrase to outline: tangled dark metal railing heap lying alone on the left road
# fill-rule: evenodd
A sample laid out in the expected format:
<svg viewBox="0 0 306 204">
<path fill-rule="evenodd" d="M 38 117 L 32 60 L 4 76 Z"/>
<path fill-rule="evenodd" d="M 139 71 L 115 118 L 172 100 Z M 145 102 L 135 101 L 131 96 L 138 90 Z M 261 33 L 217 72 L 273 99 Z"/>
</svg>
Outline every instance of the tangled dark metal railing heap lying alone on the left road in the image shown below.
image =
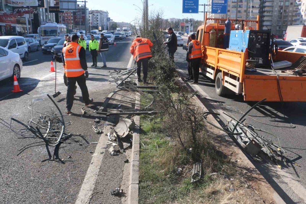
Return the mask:
<svg viewBox="0 0 306 204">
<path fill-rule="evenodd" d="M 71 133 L 66 134 L 65 130 L 66 127 L 72 123 L 65 123 L 61 110 L 54 100 L 49 95 L 47 96 L 57 108 L 59 116 L 56 115 L 53 110 L 49 114 L 33 110 L 31 101 L 31 105 L 28 107 L 31 110 L 31 119 L 29 119 L 26 124 L 14 118 L 11 118 L 10 123 L 0 119 L 0 123 L 24 138 L 42 139 L 46 147 L 59 145 L 71 135 Z M 37 114 L 37 117 L 34 116 L 34 112 Z"/>
</svg>

